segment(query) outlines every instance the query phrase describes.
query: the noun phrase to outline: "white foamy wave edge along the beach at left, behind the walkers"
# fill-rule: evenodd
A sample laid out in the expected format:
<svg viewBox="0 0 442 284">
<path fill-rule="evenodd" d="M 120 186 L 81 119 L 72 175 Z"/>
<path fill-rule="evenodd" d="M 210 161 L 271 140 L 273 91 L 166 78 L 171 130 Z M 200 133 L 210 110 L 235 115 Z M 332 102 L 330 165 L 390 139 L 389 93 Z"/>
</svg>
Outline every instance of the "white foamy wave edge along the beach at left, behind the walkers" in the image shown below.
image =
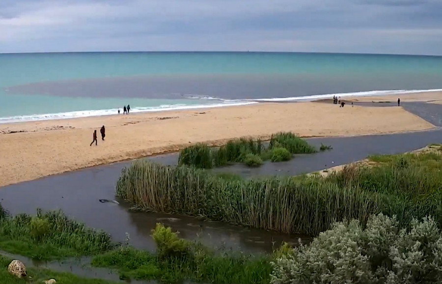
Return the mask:
<svg viewBox="0 0 442 284">
<path fill-rule="evenodd" d="M 177 110 L 192 110 L 192 109 L 206 109 L 206 108 L 219 108 L 225 106 L 240 106 L 240 105 L 250 105 L 257 102 L 237 102 L 237 103 L 218 103 L 218 104 L 202 104 L 202 105 L 161 105 L 156 107 L 134 107 L 131 108 L 131 113 L 148 113 L 148 112 L 161 112 L 161 111 L 177 111 Z M 120 109 L 121 113 L 123 112 Z M 17 115 L 9 117 L 0 117 L 0 124 L 2 123 L 12 123 L 12 122 L 22 122 L 22 121 L 39 121 L 39 120 L 53 120 L 53 119 L 67 119 L 67 118 L 78 118 L 78 117 L 88 117 L 88 116 L 103 116 L 103 115 L 114 115 L 118 114 L 118 109 L 108 109 L 108 110 L 89 110 L 89 111 L 76 111 L 76 112 L 65 112 L 56 114 L 31 114 L 31 115 Z"/>
</svg>

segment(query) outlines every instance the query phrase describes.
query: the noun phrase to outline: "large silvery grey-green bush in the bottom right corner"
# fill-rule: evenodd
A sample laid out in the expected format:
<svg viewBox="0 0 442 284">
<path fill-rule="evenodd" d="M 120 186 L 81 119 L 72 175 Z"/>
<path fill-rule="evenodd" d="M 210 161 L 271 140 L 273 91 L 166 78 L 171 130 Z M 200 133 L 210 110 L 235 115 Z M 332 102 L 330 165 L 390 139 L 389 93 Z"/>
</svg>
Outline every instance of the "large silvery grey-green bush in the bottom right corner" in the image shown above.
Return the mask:
<svg viewBox="0 0 442 284">
<path fill-rule="evenodd" d="M 338 222 L 272 262 L 272 284 L 442 283 L 442 238 L 432 218 L 400 229 L 395 217 Z"/>
</svg>

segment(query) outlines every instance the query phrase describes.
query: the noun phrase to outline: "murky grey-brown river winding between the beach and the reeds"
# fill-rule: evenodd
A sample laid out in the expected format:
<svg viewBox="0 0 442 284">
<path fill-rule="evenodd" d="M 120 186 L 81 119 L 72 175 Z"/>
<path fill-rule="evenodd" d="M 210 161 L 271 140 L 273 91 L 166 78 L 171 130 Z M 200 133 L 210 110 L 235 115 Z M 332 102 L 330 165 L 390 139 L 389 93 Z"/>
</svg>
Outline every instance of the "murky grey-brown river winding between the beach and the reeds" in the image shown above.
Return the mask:
<svg viewBox="0 0 442 284">
<path fill-rule="evenodd" d="M 382 104 L 381 104 L 382 105 Z M 442 106 L 409 103 L 404 104 L 414 114 L 441 126 Z M 429 110 L 429 111 L 425 111 Z M 271 175 L 299 175 L 347 164 L 366 158 L 370 154 L 398 154 L 442 141 L 442 130 L 435 129 L 414 133 L 373 135 L 359 137 L 312 138 L 308 142 L 315 146 L 331 145 L 328 151 L 308 155 L 297 155 L 288 162 L 267 162 L 259 168 L 248 168 L 234 164 L 215 169 L 230 172 L 244 178 Z M 166 154 L 147 158 L 151 161 L 175 165 L 178 154 Z M 139 249 L 154 251 L 155 243 L 151 230 L 156 223 L 172 227 L 179 236 L 200 241 L 212 248 L 242 251 L 245 253 L 269 253 L 282 242 L 292 245 L 308 243 L 311 238 L 303 235 L 284 234 L 255 228 L 210 222 L 194 217 L 134 212 L 130 204 L 115 198 L 115 184 L 122 168 L 130 162 L 76 170 L 33 181 L 22 182 L 0 188 L 0 203 L 10 214 L 35 214 L 36 208 L 61 209 L 70 217 L 84 222 L 88 227 L 109 232 L 114 241 L 129 243 Z M 115 202 L 100 202 L 100 199 Z M 103 200 L 102 200 L 103 201 Z M 127 233 L 127 234 L 126 234 Z"/>
</svg>

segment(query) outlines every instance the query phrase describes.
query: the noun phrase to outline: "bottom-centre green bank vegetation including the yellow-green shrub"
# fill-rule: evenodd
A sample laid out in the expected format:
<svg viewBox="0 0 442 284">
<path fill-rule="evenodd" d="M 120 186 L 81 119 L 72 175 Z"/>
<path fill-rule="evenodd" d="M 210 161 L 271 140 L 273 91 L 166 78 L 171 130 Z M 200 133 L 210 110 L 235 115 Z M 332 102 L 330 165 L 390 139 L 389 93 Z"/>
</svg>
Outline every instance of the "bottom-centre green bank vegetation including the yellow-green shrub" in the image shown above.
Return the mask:
<svg viewBox="0 0 442 284">
<path fill-rule="evenodd" d="M 180 239 L 161 224 L 152 230 L 157 254 L 122 246 L 92 259 L 92 265 L 117 269 L 120 278 L 183 280 L 219 284 L 269 283 L 271 256 L 216 254 L 199 244 Z"/>
</svg>

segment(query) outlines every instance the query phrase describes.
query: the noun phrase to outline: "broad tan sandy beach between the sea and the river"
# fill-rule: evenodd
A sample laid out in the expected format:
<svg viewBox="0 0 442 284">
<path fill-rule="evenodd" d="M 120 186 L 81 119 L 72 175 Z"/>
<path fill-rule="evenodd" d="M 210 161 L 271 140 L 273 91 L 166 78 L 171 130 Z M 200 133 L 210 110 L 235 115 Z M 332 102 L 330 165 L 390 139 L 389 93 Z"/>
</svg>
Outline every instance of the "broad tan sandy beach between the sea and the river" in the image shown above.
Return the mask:
<svg viewBox="0 0 442 284">
<path fill-rule="evenodd" d="M 106 141 L 99 129 L 106 126 Z M 42 176 L 278 131 L 303 137 L 354 136 L 431 129 L 398 107 L 263 103 L 217 109 L 111 115 L 0 125 L 0 186 Z M 89 146 L 92 132 L 98 146 Z"/>
</svg>

